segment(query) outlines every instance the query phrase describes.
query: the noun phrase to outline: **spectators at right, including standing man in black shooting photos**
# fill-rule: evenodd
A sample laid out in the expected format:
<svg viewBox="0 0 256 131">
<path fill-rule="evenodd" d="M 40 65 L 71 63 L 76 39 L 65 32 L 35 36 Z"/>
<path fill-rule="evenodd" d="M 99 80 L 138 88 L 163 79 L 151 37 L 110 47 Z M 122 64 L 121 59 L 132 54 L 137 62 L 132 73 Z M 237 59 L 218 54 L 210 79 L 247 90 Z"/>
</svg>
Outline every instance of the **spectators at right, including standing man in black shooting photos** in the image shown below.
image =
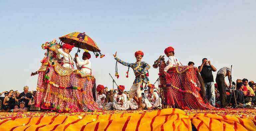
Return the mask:
<svg viewBox="0 0 256 131">
<path fill-rule="evenodd" d="M 188 65 L 194 66 L 194 63 L 189 62 Z M 222 71 L 221 69 L 217 73 L 215 82 L 218 80 L 218 75 L 220 74 L 219 72 Z M 237 79 L 236 82 L 230 81 L 232 83 L 230 86 L 226 82 L 223 82 L 225 92 L 222 92 L 220 91 L 221 89 L 218 88 L 217 83 L 214 84 L 212 75 L 212 72 L 217 71 L 217 69 L 211 64 L 210 61 L 207 60 L 207 58 L 202 59 L 202 64 L 198 66 L 198 71 L 200 72 L 204 82 L 205 96 L 212 106 L 222 108 L 220 97 L 226 96 L 224 101 L 227 101 L 227 106 L 233 108 L 256 108 L 256 83 L 254 81 L 248 81 L 246 78 Z M 226 73 L 227 72 L 228 69 Z"/>
</svg>

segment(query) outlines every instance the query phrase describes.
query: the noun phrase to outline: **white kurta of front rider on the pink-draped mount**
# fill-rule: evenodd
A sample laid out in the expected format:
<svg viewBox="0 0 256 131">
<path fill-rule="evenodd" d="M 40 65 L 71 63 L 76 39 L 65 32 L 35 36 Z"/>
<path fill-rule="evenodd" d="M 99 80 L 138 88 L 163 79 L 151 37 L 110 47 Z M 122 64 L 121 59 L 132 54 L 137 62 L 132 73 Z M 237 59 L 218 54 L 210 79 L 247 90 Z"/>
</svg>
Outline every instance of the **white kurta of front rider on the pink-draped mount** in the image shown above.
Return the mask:
<svg viewBox="0 0 256 131">
<path fill-rule="evenodd" d="M 72 57 L 71 55 L 65 53 L 62 49 L 58 49 L 57 50 L 59 54 L 63 55 L 63 67 L 66 67 L 66 68 L 74 68 L 73 67 L 73 60 L 72 60 Z"/>
</svg>

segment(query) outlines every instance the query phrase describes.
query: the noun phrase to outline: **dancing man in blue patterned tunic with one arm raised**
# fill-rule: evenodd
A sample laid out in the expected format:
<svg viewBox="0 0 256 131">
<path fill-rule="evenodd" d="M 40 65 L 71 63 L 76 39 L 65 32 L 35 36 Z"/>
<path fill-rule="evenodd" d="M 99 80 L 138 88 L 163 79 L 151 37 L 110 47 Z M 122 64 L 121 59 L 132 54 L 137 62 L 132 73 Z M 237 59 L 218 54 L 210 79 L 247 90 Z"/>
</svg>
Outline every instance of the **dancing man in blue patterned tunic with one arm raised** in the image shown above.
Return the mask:
<svg viewBox="0 0 256 131">
<path fill-rule="evenodd" d="M 149 83 L 147 72 L 148 72 L 148 69 L 150 68 L 150 65 L 147 64 L 146 62 L 141 61 L 141 59 L 144 56 L 144 53 L 142 51 L 135 52 L 135 58 L 136 58 L 135 63 L 127 63 L 120 60 L 119 58 L 117 58 L 116 53 L 113 56 L 117 62 L 119 62 L 122 65 L 131 67 L 133 69 L 133 72 L 135 74 L 135 80 L 130 89 L 130 97 L 133 98 L 138 103 L 139 105 L 138 109 L 141 110 L 142 109 L 141 88 L 143 88 L 144 85 L 146 86 Z"/>
</svg>

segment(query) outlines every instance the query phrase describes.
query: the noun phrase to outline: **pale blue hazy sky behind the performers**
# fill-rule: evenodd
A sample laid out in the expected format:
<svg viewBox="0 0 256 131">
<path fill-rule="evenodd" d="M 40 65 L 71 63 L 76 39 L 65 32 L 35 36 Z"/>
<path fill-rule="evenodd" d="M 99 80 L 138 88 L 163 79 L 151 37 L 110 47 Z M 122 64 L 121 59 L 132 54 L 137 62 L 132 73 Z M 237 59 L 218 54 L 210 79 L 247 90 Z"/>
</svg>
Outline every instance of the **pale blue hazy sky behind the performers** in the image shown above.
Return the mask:
<svg viewBox="0 0 256 131">
<path fill-rule="evenodd" d="M 120 59 L 132 63 L 134 52 L 142 50 L 143 61 L 153 65 L 168 46 L 175 48 L 183 65 L 193 61 L 199 66 L 202 58 L 208 58 L 217 70 L 233 65 L 233 81 L 256 81 L 255 7 L 254 0 L 0 1 L 0 92 L 22 91 L 24 85 L 35 90 L 37 75 L 30 73 L 41 65 L 45 52 L 41 44 L 75 31 L 89 35 L 106 55 L 102 59 L 92 55 L 90 60 L 96 84 L 109 88 L 108 73 L 115 74 L 115 51 Z M 126 66 L 118 64 L 118 71 L 117 84 L 129 90 L 133 71 L 129 78 L 125 77 Z M 154 83 L 158 69 L 151 67 L 149 74 Z"/>
</svg>

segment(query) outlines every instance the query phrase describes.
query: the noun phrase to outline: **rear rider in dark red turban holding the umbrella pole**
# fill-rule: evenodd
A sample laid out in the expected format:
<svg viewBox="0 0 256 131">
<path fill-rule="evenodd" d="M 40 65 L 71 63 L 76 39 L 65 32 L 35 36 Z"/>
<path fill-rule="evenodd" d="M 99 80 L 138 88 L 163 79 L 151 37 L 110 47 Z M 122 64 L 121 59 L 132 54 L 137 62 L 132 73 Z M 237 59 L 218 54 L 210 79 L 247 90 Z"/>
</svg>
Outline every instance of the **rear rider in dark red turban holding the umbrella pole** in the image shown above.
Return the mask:
<svg viewBox="0 0 256 131">
<path fill-rule="evenodd" d="M 75 54 L 75 65 L 80 72 L 86 73 L 86 74 L 91 74 L 91 62 L 90 59 L 91 55 L 88 52 L 83 53 L 83 61 L 80 61 L 78 58 L 78 55 Z"/>
</svg>

